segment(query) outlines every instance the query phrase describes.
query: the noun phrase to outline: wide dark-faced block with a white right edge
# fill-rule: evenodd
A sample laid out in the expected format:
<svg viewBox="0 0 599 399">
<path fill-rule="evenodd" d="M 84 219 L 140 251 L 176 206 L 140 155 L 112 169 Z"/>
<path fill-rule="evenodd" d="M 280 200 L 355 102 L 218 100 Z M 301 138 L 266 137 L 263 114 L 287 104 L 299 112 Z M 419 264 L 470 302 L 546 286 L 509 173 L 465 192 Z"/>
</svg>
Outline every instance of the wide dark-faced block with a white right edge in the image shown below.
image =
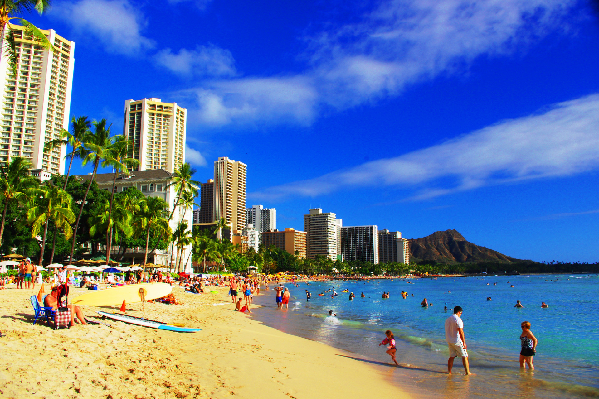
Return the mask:
<svg viewBox="0 0 599 399">
<path fill-rule="evenodd" d="M 341 227 L 341 253 L 346 261 L 379 263 L 379 227 Z"/>
</svg>

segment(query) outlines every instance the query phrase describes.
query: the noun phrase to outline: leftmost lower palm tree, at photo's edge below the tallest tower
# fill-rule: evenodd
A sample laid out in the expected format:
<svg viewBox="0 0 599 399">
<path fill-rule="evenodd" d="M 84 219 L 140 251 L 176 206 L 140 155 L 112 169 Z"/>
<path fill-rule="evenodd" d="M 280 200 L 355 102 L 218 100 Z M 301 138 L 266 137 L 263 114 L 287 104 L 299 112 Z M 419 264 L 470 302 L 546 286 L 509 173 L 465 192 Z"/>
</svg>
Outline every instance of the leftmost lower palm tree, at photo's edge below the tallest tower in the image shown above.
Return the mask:
<svg viewBox="0 0 599 399">
<path fill-rule="evenodd" d="M 28 200 L 28 191 L 38 186 L 38 179 L 29 176 L 29 169 L 34 165 L 21 157 L 14 157 L 8 165 L 0 165 L 0 194 L 4 197 L 4 211 L 2 211 L 2 225 L 0 226 L 0 245 L 4 235 L 6 211 L 8 202 L 13 199 L 21 203 Z"/>
</svg>

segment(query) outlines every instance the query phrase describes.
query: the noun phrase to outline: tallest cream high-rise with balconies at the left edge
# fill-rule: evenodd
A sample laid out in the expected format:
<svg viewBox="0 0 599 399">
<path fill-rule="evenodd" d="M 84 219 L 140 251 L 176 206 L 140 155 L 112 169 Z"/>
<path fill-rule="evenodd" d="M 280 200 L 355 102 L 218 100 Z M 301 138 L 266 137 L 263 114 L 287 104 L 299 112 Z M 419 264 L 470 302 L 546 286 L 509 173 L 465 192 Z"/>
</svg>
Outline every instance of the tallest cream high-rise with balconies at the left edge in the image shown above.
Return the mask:
<svg viewBox="0 0 599 399">
<path fill-rule="evenodd" d="M 62 129 L 69 127 L 75 42 L 53 29 L 42 29 L 54 48 L 54 51 L 44 50 L 27 36 L 23 26 L 9 24 L 7 29 L 9 26 L 19 56 L 15 76 L 2 40 L 0 163 L 23 157 L 34 164 L 33 174 L 46 180 L 52 173 L 65 171 L 66 145 L 52 151 L 44 151 L 44 145 L 60 138 Z"/>
</svg>

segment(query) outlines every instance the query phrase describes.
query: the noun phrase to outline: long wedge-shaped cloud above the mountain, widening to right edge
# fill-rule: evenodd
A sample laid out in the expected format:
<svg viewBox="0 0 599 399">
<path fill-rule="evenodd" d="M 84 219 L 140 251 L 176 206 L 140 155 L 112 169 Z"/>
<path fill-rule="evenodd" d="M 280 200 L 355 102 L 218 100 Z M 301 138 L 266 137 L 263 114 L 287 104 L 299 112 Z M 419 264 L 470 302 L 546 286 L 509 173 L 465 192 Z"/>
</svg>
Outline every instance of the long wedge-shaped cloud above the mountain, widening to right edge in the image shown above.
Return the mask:
<svg viewBox="0 0 599 399">
<path fill-rule="evenodd" d="M 397 185 L 415 199 L 526 179 L 569 176 L 599 167 L 599 95 L 562 102 L 543 114 L 501 121 L 390 159 L 250 194 L 253 199 L 319 196 Z"/>
</svg>

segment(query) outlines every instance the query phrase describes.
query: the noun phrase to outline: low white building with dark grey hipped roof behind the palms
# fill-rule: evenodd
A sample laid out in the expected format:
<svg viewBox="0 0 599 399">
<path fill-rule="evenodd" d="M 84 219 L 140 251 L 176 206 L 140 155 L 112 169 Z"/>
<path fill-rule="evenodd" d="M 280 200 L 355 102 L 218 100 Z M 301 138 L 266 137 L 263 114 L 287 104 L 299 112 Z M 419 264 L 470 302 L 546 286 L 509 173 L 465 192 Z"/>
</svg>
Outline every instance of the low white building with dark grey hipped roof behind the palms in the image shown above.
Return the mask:
<svg viewBox="0 0 599 399">
<path fill-rule="evenodd" d="M 77 178 L 82 179 L 83 181 L 89 181 L 91 178 L 91 173 L 89 175 L 80 175 Z M 98 173 L 96 175 L 96 182 L 98 183 L 98 187 L 103 190 L 110 191 L 114 178 L 114 173 Z M 168 172 L 165 169 L 156 169 L 156 170 L 135 170 L 134 172 L 129 173 L 129 176 L 120 175 L 116 179 L 116 184 L 114 185 L 115 192 L 121 192 L 129 190 L 131 187 L 135 187 L 140 190 L 147 197 L 162 197 L 168 204 L 168 212 L 173 211 L 173 206 L 175 205 L 175 201 L 177 198 L 177 193 L 174 186 L 166 188 L 168 184 L 172 181 L 173 173 Z M 177 210 L 173 214 L 173 219 L 171 219 L 170 226 L 171 230 L 175 230 L 177 228 L 177 224 L 180 221 L 187 222 L 187 230 L 189 232 L 192 231 L 192 218 L 193 211 L 192 208 L 185 209 L 183 206 L 177 206 Z M 168 238 L 168 237 L 167 237 Z M 144 260 L 144 247 L 138 248 L 128 248 L 123 256 L 123 261 L 127 263 L 141 263 Z M 149 250 L 151 250 L 150 248 Z M 192 273 L 192 259 L 190 257 L 192 250 L 192 245 L 187 245 L 183 248 L 183 255 L 181 257 L 181 269 L 184 272 Z M 104 248 L 105 251 L 105 248 Z M 117 254 L 122 251 L 118 245 L 113 245 L 110 252 L 111 254 Z M 105 253 L 105 252 L 104 252 Z M 174 253 L 177 254 L 177 248 L 175 247 Z M 111 255 L 112 256 L 112 255 Z M 149 263 L 155 264 L 163 264 L 165 266 L 172 266 L 174 269 L 179 265 L 179 258 L 176 256 L 172 257 L 173 264 L 171 265 L 171 245 L 168 246 L 167 249 L 160 250 L 156 249 L 155 254 L 148 258 Z"/>
</svg>

